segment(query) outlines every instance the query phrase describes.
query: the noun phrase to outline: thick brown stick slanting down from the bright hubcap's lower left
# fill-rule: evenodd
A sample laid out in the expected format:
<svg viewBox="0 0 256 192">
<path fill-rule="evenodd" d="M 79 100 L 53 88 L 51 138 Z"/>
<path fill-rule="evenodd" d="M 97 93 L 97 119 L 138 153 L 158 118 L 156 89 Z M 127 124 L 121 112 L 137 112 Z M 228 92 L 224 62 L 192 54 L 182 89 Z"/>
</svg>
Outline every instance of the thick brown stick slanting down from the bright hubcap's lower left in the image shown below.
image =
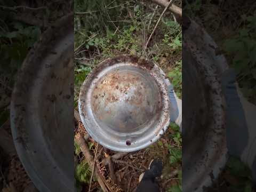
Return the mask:
<svg viewBox="0 0 256 192">
<path fill-rule="evenodd" d="M 77 133 L 75 135 L 75 140 L 76 140 L 77 144 L 80 146 L 86 161 L 90 165 L 91 170 L 93 170 L 93 164 L 94 164 L 93 157 L 90 153 L 89 148 L 87 147 L 87 145 L 85 143 L 85 140 L 83 139 L 83 136 L 80 133 Z M 95 167 L 94 175 L 95 175 L 95 177 L 97 177 L 98 183 L 99 183 L 101 189 L 103 190 L 103 192 L 108 192 L 108 189 L 106 188 L 106 185 L 105 185 L 105 183 L 107 183 L 107 181 L 100 174 L 98 167 Z"/>
</svg>

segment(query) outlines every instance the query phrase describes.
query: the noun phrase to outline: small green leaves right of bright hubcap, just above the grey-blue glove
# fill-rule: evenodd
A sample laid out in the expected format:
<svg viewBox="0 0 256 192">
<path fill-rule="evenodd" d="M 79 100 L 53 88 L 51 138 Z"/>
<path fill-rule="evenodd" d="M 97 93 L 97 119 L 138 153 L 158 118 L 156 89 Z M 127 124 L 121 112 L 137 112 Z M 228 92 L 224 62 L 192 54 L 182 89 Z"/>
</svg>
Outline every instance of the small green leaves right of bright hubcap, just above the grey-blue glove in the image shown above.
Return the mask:
<svg viewBox="0 0 256 192">
<path fill-rule="evenodd" d="M 167 74 L 174 87 L 174 91 L 180 98 L 182 94 L 182 61 L 177 61 L 173 69 Z"/>
</svg>

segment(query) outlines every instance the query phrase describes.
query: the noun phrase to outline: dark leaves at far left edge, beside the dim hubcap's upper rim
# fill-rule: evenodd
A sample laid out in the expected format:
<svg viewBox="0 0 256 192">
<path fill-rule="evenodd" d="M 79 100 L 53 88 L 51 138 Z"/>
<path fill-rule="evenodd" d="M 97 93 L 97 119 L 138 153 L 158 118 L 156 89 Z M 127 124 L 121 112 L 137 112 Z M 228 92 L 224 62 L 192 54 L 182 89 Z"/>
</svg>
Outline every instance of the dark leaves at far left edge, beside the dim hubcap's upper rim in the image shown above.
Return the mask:
<svg viewBox="0 0 256 192">
<path fill-rule="evenodd" d="M 41 29 L 21 22 L 1 21 L 1 26 L 3 27 L 0 28 L 0 71 L 2 74 L 9 74 L 10 87 L 12 87 L 15 74 L 29 49 L 41 35 Z"/>
</svg>

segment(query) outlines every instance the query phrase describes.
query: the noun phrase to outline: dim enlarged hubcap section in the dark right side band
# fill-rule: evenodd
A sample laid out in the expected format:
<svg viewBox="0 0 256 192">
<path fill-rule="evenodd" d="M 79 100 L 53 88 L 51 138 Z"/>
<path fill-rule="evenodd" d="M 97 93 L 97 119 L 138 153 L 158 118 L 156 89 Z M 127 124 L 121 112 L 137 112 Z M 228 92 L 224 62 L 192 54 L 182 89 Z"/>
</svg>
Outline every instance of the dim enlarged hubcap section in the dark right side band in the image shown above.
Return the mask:
<svg viewBox="0 0 256 192">
<path fill-rule="evenodd" d="M 227 161 L 225 101 L 220 75 L 227 68 L 217 45 L 194 21 L 182 41 L 182 190 L 204 191 Z"/>
</svg>

